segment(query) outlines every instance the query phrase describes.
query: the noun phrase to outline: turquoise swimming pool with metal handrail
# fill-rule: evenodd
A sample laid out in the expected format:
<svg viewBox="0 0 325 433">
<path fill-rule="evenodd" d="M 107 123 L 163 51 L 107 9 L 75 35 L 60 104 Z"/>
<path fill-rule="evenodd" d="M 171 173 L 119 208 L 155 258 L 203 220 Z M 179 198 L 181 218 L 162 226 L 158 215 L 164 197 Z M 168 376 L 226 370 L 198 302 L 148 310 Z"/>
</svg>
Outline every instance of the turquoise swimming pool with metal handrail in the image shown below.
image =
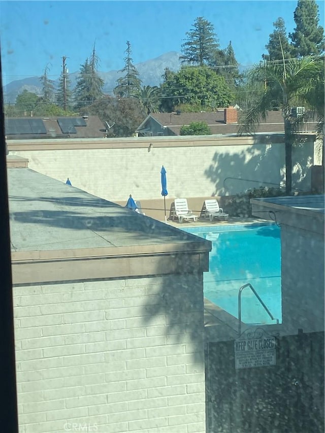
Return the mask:
<svg viewBox="0 0 325 433">
<path fill-rule="evenodd" d="M 204 273 L 204 296 L 238 318 L 238 292 L 250 283 L 273 317 L 282 322 L 280 227 L 275 224 L 236 224 L 185 227 L 212 242 L 209 272 Z M 242 322 L 271 324 L 253 292 L 241 295 Z"/>
</svg>

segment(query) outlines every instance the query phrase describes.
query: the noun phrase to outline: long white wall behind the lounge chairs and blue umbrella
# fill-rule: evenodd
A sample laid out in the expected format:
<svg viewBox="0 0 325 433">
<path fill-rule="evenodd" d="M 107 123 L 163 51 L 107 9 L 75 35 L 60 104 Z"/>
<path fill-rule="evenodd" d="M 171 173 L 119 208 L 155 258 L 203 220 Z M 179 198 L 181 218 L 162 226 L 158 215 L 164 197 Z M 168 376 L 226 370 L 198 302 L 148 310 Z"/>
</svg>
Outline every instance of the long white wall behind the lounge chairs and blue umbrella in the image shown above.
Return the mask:
<svg viewBox="0 0 325 433">
<path fill-rule="evenodd" d="M 188 147 L 177 147 L 178 141 L 171 147 L 159 147 L 153 141 L 150 152 L 147 143 L 128 148 L 124 142 L 121 148 L 110 148 L 108 143 L 101 149 L 90 145 L 73 150 L 31 150 L 30 146 L 17 151 L 12 145 L 9 149 L 12 155 L 28 158 L 30 169 L 62 182 L 69 177 L 73 186 L 114 202 L 126 201 L 129 194 L 138 200 L 161 198 L 161 165 L 167 171 L 169 197 L 233 195 L 260 186 L 258 182 L 283 184 L 283 143 L 255 141 L 257 144 L 227 145 L 224 139 L 223 145 L 219 139 L 214 146 L 209 138 L 207 146 L 201 140 Z M 313 144 L 295 147 L 293 162 L 293 187 L 309 190 Z"/>
</svg>

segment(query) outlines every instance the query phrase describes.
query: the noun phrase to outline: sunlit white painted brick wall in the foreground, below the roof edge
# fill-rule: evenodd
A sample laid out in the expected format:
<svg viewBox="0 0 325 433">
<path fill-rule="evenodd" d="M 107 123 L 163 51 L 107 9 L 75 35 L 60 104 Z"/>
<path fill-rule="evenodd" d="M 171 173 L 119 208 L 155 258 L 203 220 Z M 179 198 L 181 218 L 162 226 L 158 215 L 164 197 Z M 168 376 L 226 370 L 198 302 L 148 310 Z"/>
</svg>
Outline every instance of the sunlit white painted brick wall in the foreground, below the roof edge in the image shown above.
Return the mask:
<svg viewBox="0 0 325 433">
<path fill-rule="evenodd" d="M 202 275 L 14 287 L 14 315 L 20 432 L 205 432 Z"/>
</svg>

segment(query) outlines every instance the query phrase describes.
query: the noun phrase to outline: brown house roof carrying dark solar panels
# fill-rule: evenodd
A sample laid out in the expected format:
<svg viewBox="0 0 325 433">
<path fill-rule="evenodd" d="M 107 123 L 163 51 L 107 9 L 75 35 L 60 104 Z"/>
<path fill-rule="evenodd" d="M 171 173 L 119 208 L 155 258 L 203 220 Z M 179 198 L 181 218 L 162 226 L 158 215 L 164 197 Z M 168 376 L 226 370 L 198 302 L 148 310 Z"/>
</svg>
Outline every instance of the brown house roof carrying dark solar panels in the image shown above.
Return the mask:
<svg viewBox="0 0 325 433">
<path fill-rule="evenodd" d="M 5 119 L 9 140 L 100 138 L 105 127 L 98 116 L 84 117 L 13 117 Z"/>
</svg>

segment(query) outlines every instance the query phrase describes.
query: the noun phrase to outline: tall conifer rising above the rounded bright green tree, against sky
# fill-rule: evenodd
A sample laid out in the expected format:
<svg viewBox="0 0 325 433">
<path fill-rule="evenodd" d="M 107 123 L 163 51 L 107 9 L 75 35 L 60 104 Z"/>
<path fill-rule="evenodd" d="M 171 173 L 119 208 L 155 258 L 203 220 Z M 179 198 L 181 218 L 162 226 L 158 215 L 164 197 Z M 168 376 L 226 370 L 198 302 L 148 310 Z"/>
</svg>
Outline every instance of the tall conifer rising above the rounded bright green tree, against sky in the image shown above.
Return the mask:
<svg viewBox="0 0 325 433">
<path fill-rule="evenodd" d="M 181 46 L 182 62 L 200 66 L 209 64 L 219 48 L 213 24 L 203 17 L 198 17 L 192 29 L 186 32 L 186 36 L 187 39 Z"/>
</svg>

